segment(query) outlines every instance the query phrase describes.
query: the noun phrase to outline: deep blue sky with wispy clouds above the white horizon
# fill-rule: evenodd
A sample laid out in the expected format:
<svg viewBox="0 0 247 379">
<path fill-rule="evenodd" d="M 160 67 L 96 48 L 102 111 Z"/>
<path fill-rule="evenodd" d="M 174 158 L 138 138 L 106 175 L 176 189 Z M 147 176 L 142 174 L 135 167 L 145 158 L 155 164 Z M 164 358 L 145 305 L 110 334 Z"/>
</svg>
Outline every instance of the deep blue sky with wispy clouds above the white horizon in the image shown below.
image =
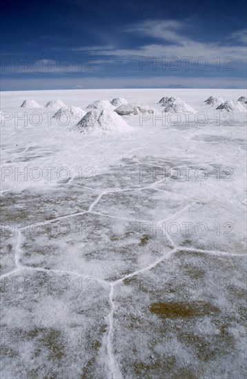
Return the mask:
<svg viewBox="0 0 247 379">
<path fill-rule="evenodd" d="M 246 1 L 8 0 L 1 82 L 1 90 L 245 88 Z"/>
</svg>

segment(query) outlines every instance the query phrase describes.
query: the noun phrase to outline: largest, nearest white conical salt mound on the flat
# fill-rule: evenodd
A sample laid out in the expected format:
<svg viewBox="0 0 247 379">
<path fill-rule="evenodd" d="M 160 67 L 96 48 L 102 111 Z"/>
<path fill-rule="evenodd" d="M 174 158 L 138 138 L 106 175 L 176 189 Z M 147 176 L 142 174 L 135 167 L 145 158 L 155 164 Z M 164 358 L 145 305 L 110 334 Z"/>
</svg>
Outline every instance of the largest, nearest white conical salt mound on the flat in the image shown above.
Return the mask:
<svg viewBox="0 0 247 379">
<path fill-rule="evenodd" d="M 109 132 L 131 132 L 132 127 L 117 113 L 110 110 L 89 111 L 77 123 L 76 130 L 83 134 L 108 134 Z"/>
</svg>

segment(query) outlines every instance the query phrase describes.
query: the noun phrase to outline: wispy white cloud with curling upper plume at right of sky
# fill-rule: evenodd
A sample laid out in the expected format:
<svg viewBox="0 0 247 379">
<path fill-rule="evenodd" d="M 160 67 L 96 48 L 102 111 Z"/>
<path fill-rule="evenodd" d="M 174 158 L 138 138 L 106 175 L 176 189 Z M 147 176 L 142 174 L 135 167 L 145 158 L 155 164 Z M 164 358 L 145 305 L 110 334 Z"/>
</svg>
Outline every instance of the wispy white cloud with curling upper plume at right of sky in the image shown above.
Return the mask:
<svg viewBox="0 0 247 379">
<path fill-rule="evenodd" d="M 135 33 L 155 39 L 155 43 L 140 45 L 137 48 L 115 48 L 112 45 L 82 46 L 73 51 L 93 51 L 95 57 L 106 56 L 137 61 L 139 57 L 205 57 L 209 63 L 217 57 L 232 57 L 235 62 L 246 62 L 245 30 L 238 30 L 226 36 L 224 40 L 200 42 L 186 37 L 188 21 L 153 21 L 146 20 L 126 28 L 125 32 Z M 157 41 L 158 40 L 158 41 Z M 103 62 L 103 61 L 102 61 Z"/>
</svg>

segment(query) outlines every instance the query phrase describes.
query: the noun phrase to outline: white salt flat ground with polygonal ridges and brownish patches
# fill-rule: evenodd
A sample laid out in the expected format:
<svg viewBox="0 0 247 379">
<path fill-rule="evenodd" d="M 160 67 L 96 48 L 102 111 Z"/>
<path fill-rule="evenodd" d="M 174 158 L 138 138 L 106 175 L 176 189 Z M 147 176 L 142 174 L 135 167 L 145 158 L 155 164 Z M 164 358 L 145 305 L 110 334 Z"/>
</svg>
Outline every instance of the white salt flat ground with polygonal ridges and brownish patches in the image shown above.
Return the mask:
<svg viewBox="0 0 247 379">
<path fill-rule="evenodd" d="M 82 109 L 98 98 L 152 105 L 164 96 L 134 92 L 31 96 Z M 3 111 L 17 110 L 18 94 L 19 102 L 2 96 Z M 2 181 L 1 377 L 245 377 L 244 115 L 217 126 L 204 105 L 212 94 L 169 91 L 207 109 L 204 126 L 140 126 L 124 116 L 134 130 L 120 138 L 61 133 L 55 120 L 2 127 L 3 166 L 55 170 L 49 180 Z M 179 177 L 164 171 L 172 167 Z"/>
</svg>

